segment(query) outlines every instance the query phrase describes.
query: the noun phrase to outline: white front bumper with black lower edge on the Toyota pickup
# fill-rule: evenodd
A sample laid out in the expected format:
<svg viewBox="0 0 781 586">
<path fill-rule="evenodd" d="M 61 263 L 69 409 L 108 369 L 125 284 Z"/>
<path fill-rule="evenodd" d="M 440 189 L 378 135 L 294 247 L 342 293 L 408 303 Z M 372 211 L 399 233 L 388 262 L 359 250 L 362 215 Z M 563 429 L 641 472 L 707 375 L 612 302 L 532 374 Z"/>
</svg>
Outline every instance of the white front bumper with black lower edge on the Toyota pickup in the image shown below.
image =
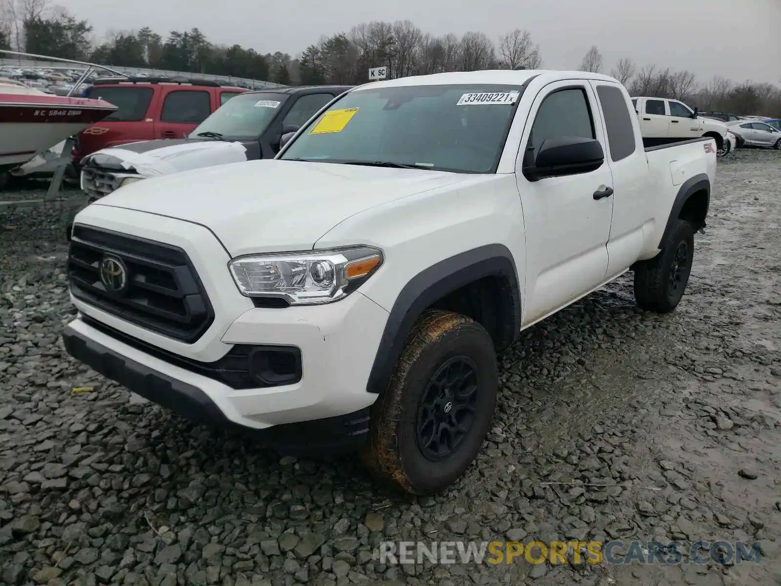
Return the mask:
<svg viewBox="0 0 781 586">
<path fill-rule="evenodd" d="M 242 313 L 223 335 L 226 350 L 233 345 L 277 345 L 301 352 L 298 382 L 259 388 L 232 388 L 203 368 L 166 359 L 93 327 L 81 315 L 62 337 L 75 359 L 144 398 L 193 420 L 262 430 L 371 406 L 376 395 L 366 391 L 366 383 L 386 321 L 387 312 L 358 291 L 326 306 Z"/>
</svg>

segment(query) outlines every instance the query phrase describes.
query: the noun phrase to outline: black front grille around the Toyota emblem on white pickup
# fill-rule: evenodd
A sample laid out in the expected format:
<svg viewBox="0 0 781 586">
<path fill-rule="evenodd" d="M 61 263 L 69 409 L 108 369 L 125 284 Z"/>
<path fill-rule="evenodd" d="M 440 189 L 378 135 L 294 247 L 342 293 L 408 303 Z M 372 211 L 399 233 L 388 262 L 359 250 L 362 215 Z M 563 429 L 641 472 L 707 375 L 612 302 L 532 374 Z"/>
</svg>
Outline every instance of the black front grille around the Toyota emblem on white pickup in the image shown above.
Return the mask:
<svg viewBox="0 0 781 586">
<path fill-rule="evenodd" d="M 108 291 L 100 277 L 106 254 L 127 267 L 127 288 Z M 209 297 L 181 248 L 77 224 L 68 253 L 73 296 L 123 320 L 192 343 L 214 320 Z"/>
</svg>

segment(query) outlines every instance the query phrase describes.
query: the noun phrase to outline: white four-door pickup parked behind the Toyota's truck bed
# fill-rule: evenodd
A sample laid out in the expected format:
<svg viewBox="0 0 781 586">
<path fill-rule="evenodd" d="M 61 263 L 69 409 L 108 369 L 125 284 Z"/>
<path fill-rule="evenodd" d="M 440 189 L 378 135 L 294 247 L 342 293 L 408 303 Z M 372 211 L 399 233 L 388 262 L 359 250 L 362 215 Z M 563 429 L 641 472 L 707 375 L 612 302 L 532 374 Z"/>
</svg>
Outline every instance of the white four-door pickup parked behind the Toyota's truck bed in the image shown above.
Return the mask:
<svg viewBox="0 0 781 586">
<path fill-rule="evenodd" d="M 708 137 L 716 141 L 719 156 L 727 154 L 727 127 L 720 120 L 697 115 L 697 109 L 678 100 L 666 98 L 632 98 L 640 120 L 644 145 L 665 145 L 670 142 Z"/>
</svg>

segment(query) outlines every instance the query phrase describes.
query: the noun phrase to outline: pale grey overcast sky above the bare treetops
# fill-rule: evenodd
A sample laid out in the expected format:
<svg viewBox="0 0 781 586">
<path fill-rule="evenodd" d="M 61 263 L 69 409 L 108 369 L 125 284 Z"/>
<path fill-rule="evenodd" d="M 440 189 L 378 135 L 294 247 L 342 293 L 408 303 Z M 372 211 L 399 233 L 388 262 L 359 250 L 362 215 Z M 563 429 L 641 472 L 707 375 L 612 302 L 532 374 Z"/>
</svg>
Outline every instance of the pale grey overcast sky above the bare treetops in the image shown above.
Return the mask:
<svg viewBox="0 0 781 586">
<path fill-rule="evenodd" d="M 108 29 L 198 27 L 219 44 L 296 55 L 321 34 L 371 20 L 412 20 L 423 32 L 480 30 L 496 40 L 531 31 L 544 66 L 577 69 L 590 45 L 604 69 L 629 56 L 640 65 L 687 69 L 698 78 L 781 83 L 781 0 L 55 0 Z"/>
</svg>

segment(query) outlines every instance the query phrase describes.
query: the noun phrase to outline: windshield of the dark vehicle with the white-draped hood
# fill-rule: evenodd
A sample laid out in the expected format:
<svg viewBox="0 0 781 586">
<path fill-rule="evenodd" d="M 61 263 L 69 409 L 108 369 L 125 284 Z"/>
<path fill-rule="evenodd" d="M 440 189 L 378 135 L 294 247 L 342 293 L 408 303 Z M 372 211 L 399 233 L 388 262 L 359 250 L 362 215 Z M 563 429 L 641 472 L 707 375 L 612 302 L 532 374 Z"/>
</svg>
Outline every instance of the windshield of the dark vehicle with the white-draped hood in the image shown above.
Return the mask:
<svg viewBox="0 0 781 586">
<path fill-rule="evenodd" d="M 287 95 L 273 93 L 239 94 L 216 109 L 190 133 L 191 138 L 207 132 L 238 140 L 258 138 L 280 111 Z"/>
</svg>

